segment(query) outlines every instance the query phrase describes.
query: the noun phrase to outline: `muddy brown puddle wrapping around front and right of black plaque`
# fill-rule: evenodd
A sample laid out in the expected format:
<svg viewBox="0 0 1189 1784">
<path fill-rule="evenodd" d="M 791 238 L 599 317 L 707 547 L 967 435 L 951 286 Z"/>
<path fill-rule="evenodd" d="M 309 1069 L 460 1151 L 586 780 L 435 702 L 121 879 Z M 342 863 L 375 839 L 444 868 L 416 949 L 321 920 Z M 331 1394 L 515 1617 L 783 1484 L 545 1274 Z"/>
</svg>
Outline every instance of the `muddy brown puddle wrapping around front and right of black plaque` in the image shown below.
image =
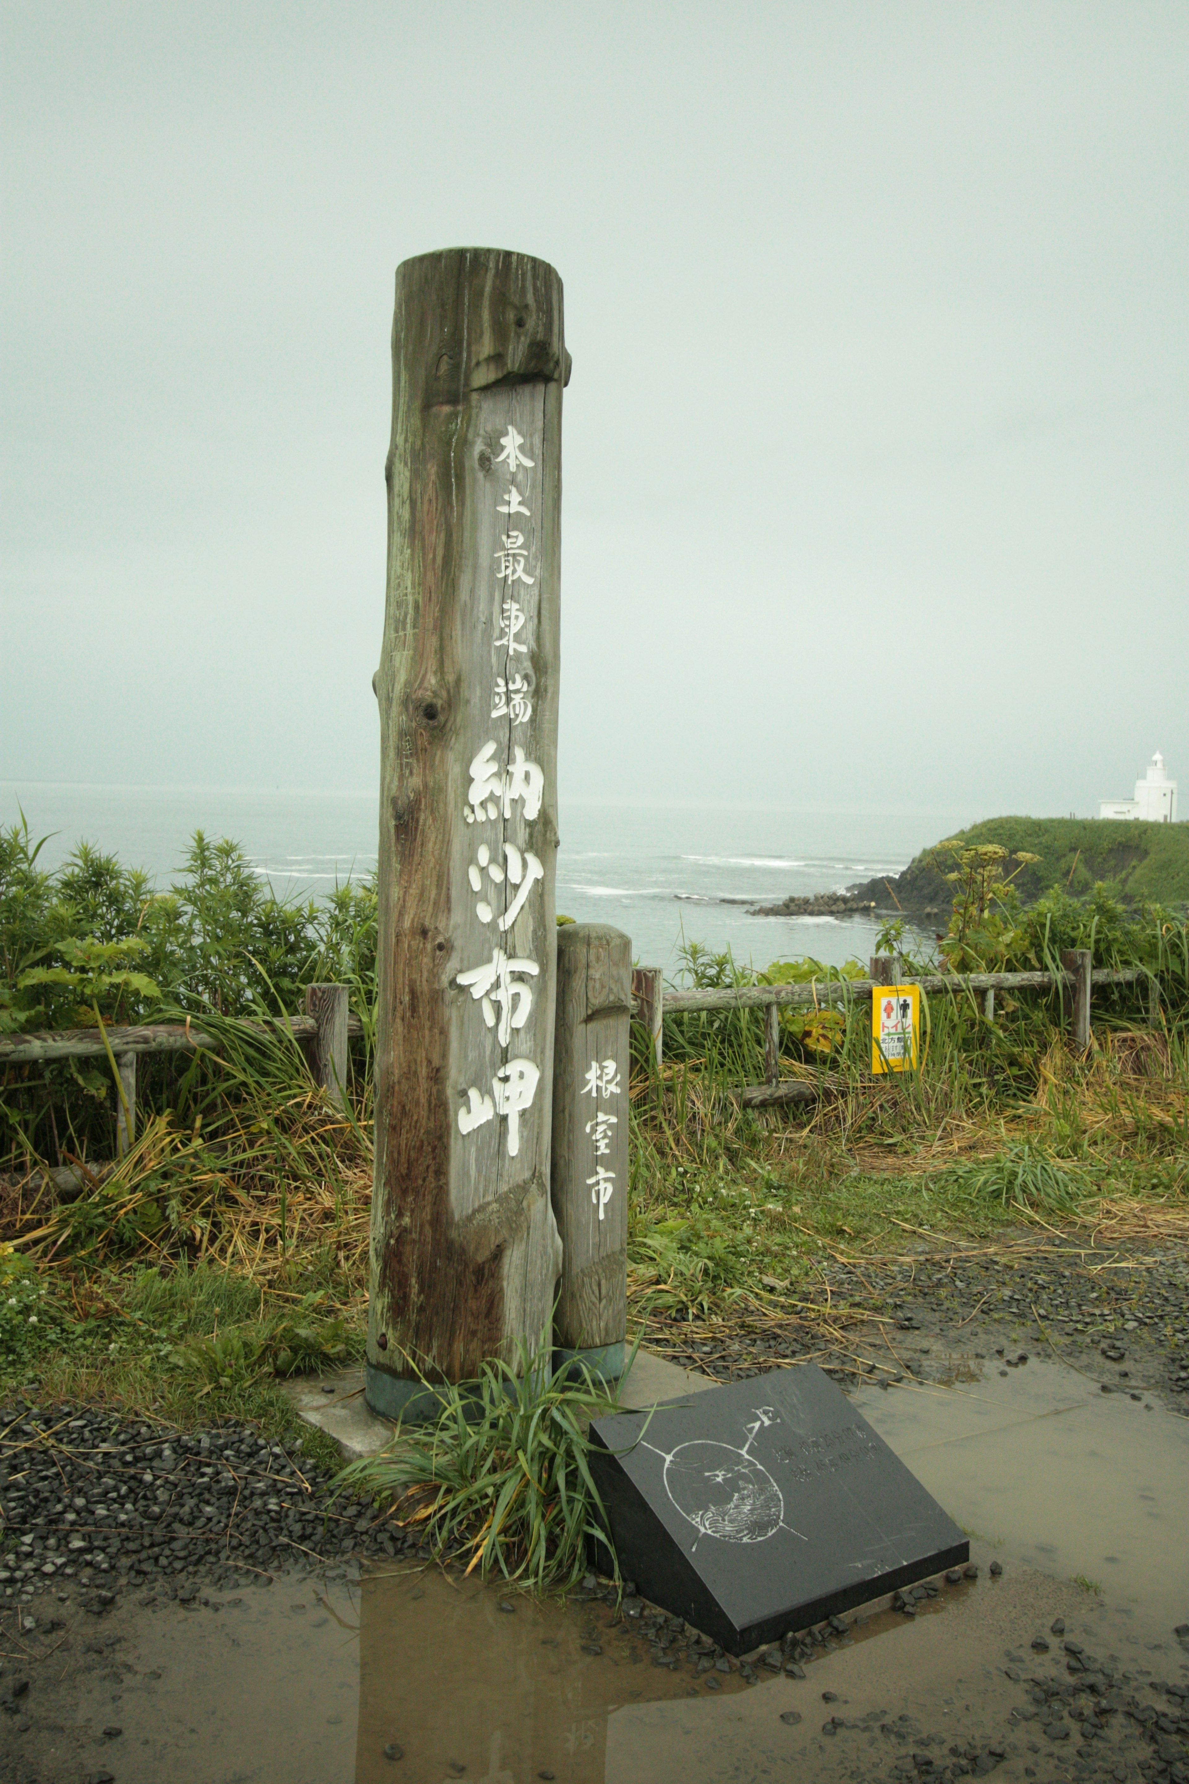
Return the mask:
<svg viewBox="0 0 1189 1784">
<path fill-rule="evenodd" d="M 118 1670 L 107 1659 L 64 1688 L 46 1739 L 68 1727 L 102 1745 L 118 1702 L 119 1784 L 875 1784 L 955 1748 L 995 1755 L 1000 1784 L 1075 1775 L 1054 1770 L 1032 1720 L 1030 1677 L 1070 1688 L 1055 1618 L 1130 1681 L 1119 1689 L 1189 1673 L 1171 1639 L 1189 1611 L 1189 1422 L 1037 1363 L 1009 1381 L 865 1392 L 859 1406 L 955 1518 L 1002 1547 L 975 1541 L 977 1582 L 945 1586 L 913 1620 L 872 1611 L 804 1679 L 761 1666 L 743 1684 L 681 1636 L 668 1670 L 640 1618 L 597 1600 L 535 1604 L 403 1568 L 357 1586 L 280 1581 L 219 1615 L 121 1607 L 103 1625 Z M 1073 1573 L 1103 1579 L 1102 1600 Z M 1095 1763 L 1136 1777 L 1137 1739 L 1118 1716 L 1095 1734 Z M 52 1745 L 39 1757 L 39 1775 L 78 1772 Z"/>
</svg>

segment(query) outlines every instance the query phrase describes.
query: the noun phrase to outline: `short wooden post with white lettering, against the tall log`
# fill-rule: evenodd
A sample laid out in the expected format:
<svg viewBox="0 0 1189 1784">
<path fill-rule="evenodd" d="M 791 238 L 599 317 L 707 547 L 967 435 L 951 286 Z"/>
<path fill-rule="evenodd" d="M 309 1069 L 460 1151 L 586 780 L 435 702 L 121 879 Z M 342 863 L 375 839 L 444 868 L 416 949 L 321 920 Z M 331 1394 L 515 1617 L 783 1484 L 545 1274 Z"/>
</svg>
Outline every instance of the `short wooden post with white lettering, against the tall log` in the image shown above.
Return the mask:
<svg viewBox="0 0 1189 1784">
<path fill-rule="evenodd" d="M 558 929 L 553 1211 L 563 1245 L 554 1361 L 624 1372 L 631 942 L 601 922 Z"/>
</svg>

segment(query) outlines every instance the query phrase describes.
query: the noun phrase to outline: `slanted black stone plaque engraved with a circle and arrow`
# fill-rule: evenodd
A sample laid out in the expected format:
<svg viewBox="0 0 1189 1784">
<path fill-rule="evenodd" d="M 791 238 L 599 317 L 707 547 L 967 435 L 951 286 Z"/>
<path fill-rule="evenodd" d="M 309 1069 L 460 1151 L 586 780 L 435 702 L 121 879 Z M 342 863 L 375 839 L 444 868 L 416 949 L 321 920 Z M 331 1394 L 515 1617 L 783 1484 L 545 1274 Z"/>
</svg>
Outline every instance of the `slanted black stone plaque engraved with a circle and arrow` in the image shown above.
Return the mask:
<svg viewBox="0 0 1189 1784">
<path fill-rule="evenodd" d="M 729 1654 L 970 1559 L 813 1365 L 595 1418 L 590 1443 L 622 1577 Z"/>
</svg>

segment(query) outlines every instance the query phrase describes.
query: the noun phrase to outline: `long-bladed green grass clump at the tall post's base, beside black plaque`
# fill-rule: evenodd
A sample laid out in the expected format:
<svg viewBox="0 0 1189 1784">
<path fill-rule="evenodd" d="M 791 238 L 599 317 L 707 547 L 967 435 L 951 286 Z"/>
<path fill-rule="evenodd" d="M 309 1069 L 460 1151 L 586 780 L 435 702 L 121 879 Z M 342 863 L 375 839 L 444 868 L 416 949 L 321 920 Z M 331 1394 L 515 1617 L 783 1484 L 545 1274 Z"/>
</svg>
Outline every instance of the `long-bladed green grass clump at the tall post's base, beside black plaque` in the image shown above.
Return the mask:
<svg viewBox="0 0 1189 1784">
<path fill-rule="evenodd" d="M 421 1529 L 437 1559 L 465 1561 L 467 1573 L 535 1591 L 574 1586 L 588 1538 L 610 1547 L 586 1422 L 617 1411 L 615 1393 L 586 1370 L 578 1381 L 554 1370 L 547 1340 L 535 1354 L 522 1345 L 515 1368 L 490 1361 L 476 1381 L 426 1390 L 442 1402 L 439 1416 L 351 1463 L 342 1488 Z"/>
</svg>

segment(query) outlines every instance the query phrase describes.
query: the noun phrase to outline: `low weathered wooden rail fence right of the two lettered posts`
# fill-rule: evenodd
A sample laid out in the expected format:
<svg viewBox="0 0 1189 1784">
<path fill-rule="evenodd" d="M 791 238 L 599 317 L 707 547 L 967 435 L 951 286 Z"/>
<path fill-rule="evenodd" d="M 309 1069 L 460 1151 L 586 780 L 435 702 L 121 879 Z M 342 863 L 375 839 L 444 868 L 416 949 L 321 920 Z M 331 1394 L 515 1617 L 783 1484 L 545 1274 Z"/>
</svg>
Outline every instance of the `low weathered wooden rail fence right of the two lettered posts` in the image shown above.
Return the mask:
<svg viewBox="0 0 1189 1784">
<path fill-rule="evenodd" d="M 631 976 L 633 1013 L 652 1042 L 656 1065 L 663 1054 L 663 1024 L 667 1015 L 692 1015 L 701 1010 L 763 1010 L 765 1012 L 765 1083 L 745 1085 L 742 1101 L 747 1108 L 772 1108 L 781 1103 L 813 1103 L 816 1088 L 800 1079 L 781 1081 L 781 1010 L 822 1008 L 868 1003 L 873 992 L 886 985 L 918 985 L 927 997 L 964 994 L 982 999 L 982 1012 L 995 1020 L 996 990 L 1057 990 L 1062 1008 L 1068 1008 L 1070 1031 L 1075 1047 L 1089 1047 L 1091 999 L 1095 987 L 1148 983 L 1148 1020 L 1159 1020 L 1159 979 L 1144 967 L 1093 967 L 1087 947 L 1071 947 L 1061 954 L 1061 972 L 907 972 L 897 958 L 877 956 L 870 962 L 868 979 L 822 978 L 808 985 L 717 985 L 704 990 L 667 990 L 660 967 L 636 967 Z"/>
</svg>

